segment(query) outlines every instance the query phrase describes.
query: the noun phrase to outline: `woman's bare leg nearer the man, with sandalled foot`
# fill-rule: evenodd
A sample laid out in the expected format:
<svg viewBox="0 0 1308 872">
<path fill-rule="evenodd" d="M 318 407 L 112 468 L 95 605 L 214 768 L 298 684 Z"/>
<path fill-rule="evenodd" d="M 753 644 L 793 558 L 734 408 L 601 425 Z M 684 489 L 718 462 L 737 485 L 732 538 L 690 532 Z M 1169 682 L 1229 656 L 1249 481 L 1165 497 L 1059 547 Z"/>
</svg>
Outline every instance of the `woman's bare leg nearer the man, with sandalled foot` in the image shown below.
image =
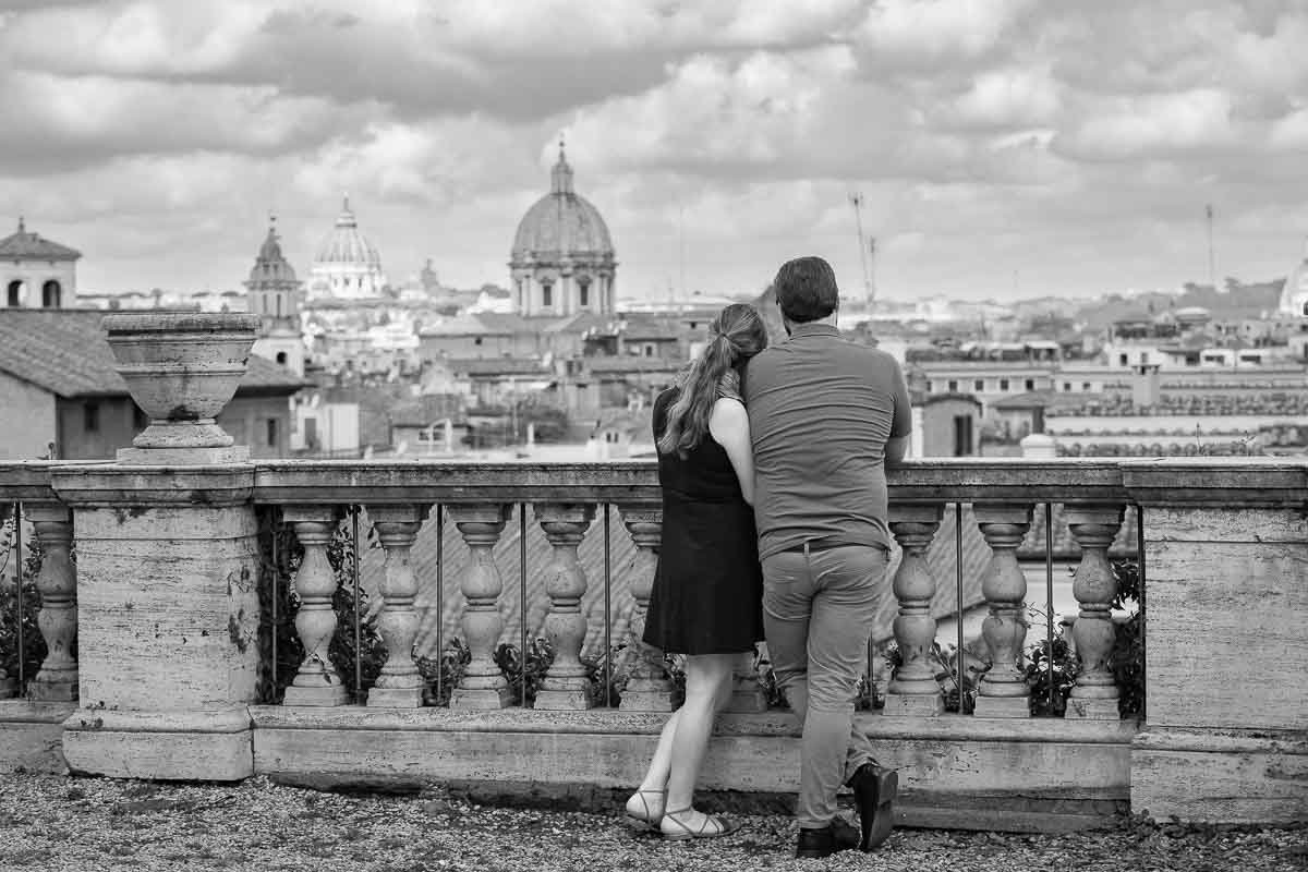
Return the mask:
<svg viewBox="0 0 1308 872">
<path fill-rule="evenodd" d="M 695 782 L 708 750 L 713 718 L 731 698 L 731 667 L 736 658 L 735 654 L 704 654 L 685 659 L 685 702 L 676 711 L 676 723 L 670 724 L 668 811 L 687 809 L 693 804 Z M 678 818 L 692 830 L 704 824 L 700 812 L 679 813 Z"/>
</svg>

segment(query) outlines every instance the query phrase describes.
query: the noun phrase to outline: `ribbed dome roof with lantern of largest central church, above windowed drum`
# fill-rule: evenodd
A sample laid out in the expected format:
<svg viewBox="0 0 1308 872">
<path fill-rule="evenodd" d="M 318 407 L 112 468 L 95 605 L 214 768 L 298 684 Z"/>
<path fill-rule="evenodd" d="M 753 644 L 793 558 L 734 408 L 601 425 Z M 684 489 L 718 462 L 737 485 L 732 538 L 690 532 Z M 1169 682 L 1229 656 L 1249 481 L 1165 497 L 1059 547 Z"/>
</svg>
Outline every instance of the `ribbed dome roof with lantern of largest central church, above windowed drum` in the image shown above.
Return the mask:
<svg viewBox="0 0 1308 872">
<path fill-rule="evenodd" d="M 549 193 L 536 200 L 518 224 L 513 260 L 611 259 L 613 242 L 608 225 L 599 209 L 573 191 L 573 171 L 562 145 L 551 178 Z"/>
</svg>

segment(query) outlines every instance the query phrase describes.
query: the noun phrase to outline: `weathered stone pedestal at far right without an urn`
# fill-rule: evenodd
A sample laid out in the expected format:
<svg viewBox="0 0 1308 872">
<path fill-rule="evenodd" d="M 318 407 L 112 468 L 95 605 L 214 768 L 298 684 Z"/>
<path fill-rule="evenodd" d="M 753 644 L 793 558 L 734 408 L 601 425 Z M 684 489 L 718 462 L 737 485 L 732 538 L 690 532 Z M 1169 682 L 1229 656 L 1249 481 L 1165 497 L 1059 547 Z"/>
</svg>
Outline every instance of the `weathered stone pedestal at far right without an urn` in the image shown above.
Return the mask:
<svg viewBox="0 0 1308 872">
<path fill-rule="evenodd" d="M 1303 821 L 1305 467 L 1168 459 L 1124 463 L 1122 478 L 1146 537 L 1147 722 L 1131 744 L 1131 811 Z"/>
</svg>

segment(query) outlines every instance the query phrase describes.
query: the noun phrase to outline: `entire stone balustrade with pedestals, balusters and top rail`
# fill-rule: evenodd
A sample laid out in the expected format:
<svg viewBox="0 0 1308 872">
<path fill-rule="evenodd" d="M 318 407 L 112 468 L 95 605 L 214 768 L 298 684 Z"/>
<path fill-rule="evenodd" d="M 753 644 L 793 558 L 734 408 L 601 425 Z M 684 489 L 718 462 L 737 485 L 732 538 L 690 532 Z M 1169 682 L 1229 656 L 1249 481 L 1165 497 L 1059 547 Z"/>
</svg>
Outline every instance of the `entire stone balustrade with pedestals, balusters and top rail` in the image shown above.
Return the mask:
<svg viewBox="0 0 1308 872">
<path fill-rule="evenodd" d="M 1281 820 L 1301 803 L 1308 790 L 1308 715 L 1303 694 L 1287 688 L 1303 686 L 1308 671 L 1300 641 L 1308 617 L 1303 463 L 972 459 L 909 463 L 889 478 L 899 560 L 888 583 L 901 662 L 889 676 L 886 707 L 861 716 L 870 732 L 900 749 L 909 771 L 917 773 L 910 779 L 926 783 L 929 773 L 948 769 L 929 758 L 950 757 L 950 743 L 1016 743 L 1028 749 L 1022 753 L 1048 748 L 1056 754 L 1050 760 L 1076 760 L 1082 752 L 1075 749 L 1093 746 L 1113 748 L 1116 756 L 1109 762 L 1095 757 L 1093 767 L 1070 763 L 1078 777 L 1088 783 L 1105 778 L 1104 771 L 1117 773 L 1112 778 L 1118 794 L 1104 786 L 1093 795 L 1129 795 L 1138 811 L 1196 820 Z M 483 758 L 476 754 L 492 752 L 472 736 L 500 736 L 508 745 L 494 745 L 496 754 L 509 748 L 530 757 L 531 735 L 572 731 L 599 741 L 595 724 L 608 723 L 596 746 L 611 750 L 596 753 L 620 754 L 627 752 L 616 749 L 642 748 L 659 713 L 672 705 L 672 676 L 661 652 L 640 643 L 661 523 L 657 473 L 647 461 L 20 463 L 0 465 L 0 501 L 22 506 L 44 552 L 35 586 L 48 648 L 26 686 L 14 688 L 21 699 L 0 702 L 0 731 L 16 723 L 58 727 L 64 757 L 81 771 L 242 778 L 315 766 L 386 769 L 391 763 L 375 743 L 360 752 L 361 762 L 344 761 L 361 748 L 352 736 L 394 731 L 429 736 L 421 745 L 428 750 L 432 743 L 453 743 L 449 748 L 473 754 L 467 771 L 475 773 L 488 765 L 477 763 Z M 974 710 L 951 715 L 931 660 L 942 617 L 933 603 L 959 579 L 944 577 L 927 554 L 940 544 L 947 509 L 959 503 L 969 507 L 965 523 L 974 524 L 990 554 L 978 575 L 964 579 L 982 601 L 963 603 L 986 612 L 980 645 L 990 665 L 976 689 Z M 1057 723 L 1029 715 L 1023 677 L 1027 604 L 1042 603 L 1042 594 L 1027 590 L 1016 556 L 1033 510 L 1046 503 L 1062 506 L 1059 516 L 1079 549 L 1073 584 L 1079 611 L 1071 630 L 1079 671 L 1066 720 Z M 366 706 L 356 705 L 361 699 L 351 697 L 327 652 L 337 621 L 337 580 L 327 548 L 352 506 L 362 507 L 385 556 L 377 591 L 383 603 L 373 626 L 386 663 Z M 1150 656 L 1143 724 L 1120 719 L 1110 672 L 1110 604 L 1117 591 L 1108 548 L 1126 506 L 1144 512 Z M 471 652 L 449 702 L 449 716 L 462 720 L 449 722 L 442 720 L 445 710 L 422 705 L 425 680 L 416 658 L 425 618 L 417 604 L 422 579 L 411 552 L 424 526 L 436 523 L 437 507 L 468 553 L 446 574 L 453 582 L 447 592 L 456 591 L 464 603 L 455 633 Z M 497 565 L 494 546 L 522 509 L 548 544 L 548 558 L 526 567 L 540 582 L 539 629 L 555 650 L 535 711 L 522 710 L 522 701 L 509 693 L 511 676 L 494 662 L 506 638 L 504 614 L 515 596 L 506 583 L 510 567 Z M 283 705 L 271 707 L 256 705 L 255 643 L 255 588 L 262 578 L 256 514 L 269 510 L 303 554 L 292 579 L 303 659 Z M 608 577 L 587 573 L 577 557 L 586 537 L 602 535 L 602 511 L 620 522 L 612 535 L 628 536 L 634 546 L 630 560 Z M 570 713 L 594 706 L 582 663 L 583 600 L 606 588 L 613 595 L 612 612 L 604 616 L 608 626 L 617 624 L 617 612 L 629 616 L 623 638 L 615 639 L 629 650 L 621 702 L 616 711 L 590 713 L 600 722 L 572 720 Z M 438 613 L 441 605 L 434 605 Z M 527 604 L 521 607 L 526 621 Z M 81 651 L 76 659 L 75 646 Z M 749 664 L 740 664 L 734 684 L 730 735 L 748 741 L 731 745 L 723 770 L 709 780 L 764 788 L 774 775 L 760 778 L 740 754 L 785 757 L 794 726 L 765 711 Z M 268 737 L 262 750 L 260 735 Z M 508 735 L 514 737 L 504 739 Z M 630 741 L 637 744 L 624 744 L 620 736 L 636 736 Z M 405 760 L 412 767 L 412 757 Z M 621 766 L 612 766 L 582 767 L 566 778 L 617 779 L 612 773 Z M 746 767 L 746 782 L 730 780 L 726 771 L 732 766 Z M 450 777 L 463 771 L 447 762 L 419 769 Z"/>
</svg>

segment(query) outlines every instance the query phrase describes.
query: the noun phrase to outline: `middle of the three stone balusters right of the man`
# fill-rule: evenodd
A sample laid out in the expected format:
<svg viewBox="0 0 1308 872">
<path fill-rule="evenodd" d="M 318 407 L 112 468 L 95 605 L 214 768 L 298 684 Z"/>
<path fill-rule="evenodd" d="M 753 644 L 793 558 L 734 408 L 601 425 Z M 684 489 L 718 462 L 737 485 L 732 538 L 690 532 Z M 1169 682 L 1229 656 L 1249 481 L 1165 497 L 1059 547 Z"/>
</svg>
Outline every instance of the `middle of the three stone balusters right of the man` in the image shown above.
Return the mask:
<svg viewBox="0 0 1308 872">
<path fill-rule="evenodd" d="M 990 669 L 977 688 L 976 713 L 982 718 L 1029 718 L 1028 690 L 1022 675 L 1022 646 L 1027 639 L 1027 577 L 1018 565 L 1018 545 L 1031 529 L 1033 506 L 978 503 L 972 507 L 990 546 L 981 594 L 990 614 L 981 635 L 990 651 Z"/>
</svg>

